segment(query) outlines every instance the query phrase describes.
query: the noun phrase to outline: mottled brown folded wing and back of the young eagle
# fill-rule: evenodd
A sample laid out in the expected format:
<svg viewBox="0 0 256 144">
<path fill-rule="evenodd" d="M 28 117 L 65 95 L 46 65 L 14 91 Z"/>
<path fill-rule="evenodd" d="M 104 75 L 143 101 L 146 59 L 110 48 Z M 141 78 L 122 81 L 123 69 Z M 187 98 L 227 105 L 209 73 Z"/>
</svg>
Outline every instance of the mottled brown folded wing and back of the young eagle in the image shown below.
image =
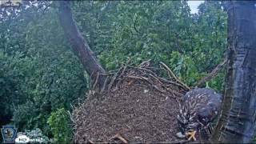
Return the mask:
<svg viewBox="0 0 256 144">
<path fill-rule="evenodd" d="M 180 104 L 178 121 L 199 121 L 203 124 L 211 122 L 218 115 L 221 107 L 222 95 L 214 90 L 198 88 L 190 90 L 183 97 Z"/>
</svg>

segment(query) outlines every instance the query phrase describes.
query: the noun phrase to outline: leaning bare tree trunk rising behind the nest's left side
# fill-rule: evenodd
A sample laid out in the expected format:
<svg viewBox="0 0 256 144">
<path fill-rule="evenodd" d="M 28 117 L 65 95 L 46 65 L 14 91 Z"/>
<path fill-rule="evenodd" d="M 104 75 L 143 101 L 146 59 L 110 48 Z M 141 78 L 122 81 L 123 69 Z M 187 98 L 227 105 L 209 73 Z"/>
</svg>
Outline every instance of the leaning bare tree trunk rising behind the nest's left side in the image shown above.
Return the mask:
<svg viewBox="0 0 256 144">
<path fill-rule="evenodd" d="M 103 70 L 102 66 L 94 57 L 94 53 L 90 50 L 90 46 L 79 32 L 78 26 L 76 26 L 72 17 L 69 1 L 59 2 L 58 16 L 62 28 L 65 31 L 66 38 L 69 39 L 74 53 L 78 56 L 82 62 L 82 66 L 88 74 L 90 74 L 90 77 L 95 80 L 97 74 L 103 73 L 105 70 Z M 98 82 L 102 84 L 104 82 L 104 78 L 98 78 Z"/>
</svg>

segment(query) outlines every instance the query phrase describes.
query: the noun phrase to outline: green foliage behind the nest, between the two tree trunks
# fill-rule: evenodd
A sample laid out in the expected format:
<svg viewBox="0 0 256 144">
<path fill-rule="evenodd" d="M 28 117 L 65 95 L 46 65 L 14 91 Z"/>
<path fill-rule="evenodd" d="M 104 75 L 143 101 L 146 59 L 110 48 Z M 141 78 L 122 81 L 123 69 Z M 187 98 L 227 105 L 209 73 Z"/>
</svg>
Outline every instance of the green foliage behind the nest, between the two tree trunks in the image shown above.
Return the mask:
<svg viewBox="0 0 256 144">
<path fill-rule="evenodd" d="M 198 14 L 190 14 L 185 1 L 85 1 L 74 3 L 74 16 L 106 70 L 128 59 L 135 64 L 151 59 L 153 66 L 165 62 L 194 86 L 224 58 L 223 6 L 223 2 L 207 1 Z M 224 71 L 209 86 L 221 91 L 223 76 Z"/>
</svg>

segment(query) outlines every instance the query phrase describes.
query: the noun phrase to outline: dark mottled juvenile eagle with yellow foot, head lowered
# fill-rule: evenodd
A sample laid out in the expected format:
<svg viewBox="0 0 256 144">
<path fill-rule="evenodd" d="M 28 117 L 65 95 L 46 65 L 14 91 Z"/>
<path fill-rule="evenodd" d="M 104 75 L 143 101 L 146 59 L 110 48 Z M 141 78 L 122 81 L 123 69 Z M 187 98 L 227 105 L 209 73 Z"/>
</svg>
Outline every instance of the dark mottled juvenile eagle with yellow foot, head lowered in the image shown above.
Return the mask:
<svg viewBox="0 0 256 144">
<path fill-rule="evenodd" d="M 222 104 L 222 95 L 207 88 L 196 88 L 187 92 L 179 105 L 177 116 L 181 130 L 178 137 L 188 137 L 196 140 L 195 134 L 211 132 L 210 122 L 217 118 Z M 197 135 L 198 135 L 197 134 Z"/>
</svg>

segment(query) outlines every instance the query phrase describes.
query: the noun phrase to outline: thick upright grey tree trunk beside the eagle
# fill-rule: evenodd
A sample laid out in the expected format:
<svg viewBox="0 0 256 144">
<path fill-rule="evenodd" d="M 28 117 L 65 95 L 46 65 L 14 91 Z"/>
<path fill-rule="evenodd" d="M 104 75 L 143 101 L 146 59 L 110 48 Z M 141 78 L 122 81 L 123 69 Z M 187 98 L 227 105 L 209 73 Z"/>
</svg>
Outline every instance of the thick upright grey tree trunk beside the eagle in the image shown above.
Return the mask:
<svg viewBox="0 0 256 144">
<path fill-rule="evenodd" d="M 229 2 L 228 66 L 221 118 L 211 142 L 251 142 L 256 120 L 255 2 Z"/>
</svg>

